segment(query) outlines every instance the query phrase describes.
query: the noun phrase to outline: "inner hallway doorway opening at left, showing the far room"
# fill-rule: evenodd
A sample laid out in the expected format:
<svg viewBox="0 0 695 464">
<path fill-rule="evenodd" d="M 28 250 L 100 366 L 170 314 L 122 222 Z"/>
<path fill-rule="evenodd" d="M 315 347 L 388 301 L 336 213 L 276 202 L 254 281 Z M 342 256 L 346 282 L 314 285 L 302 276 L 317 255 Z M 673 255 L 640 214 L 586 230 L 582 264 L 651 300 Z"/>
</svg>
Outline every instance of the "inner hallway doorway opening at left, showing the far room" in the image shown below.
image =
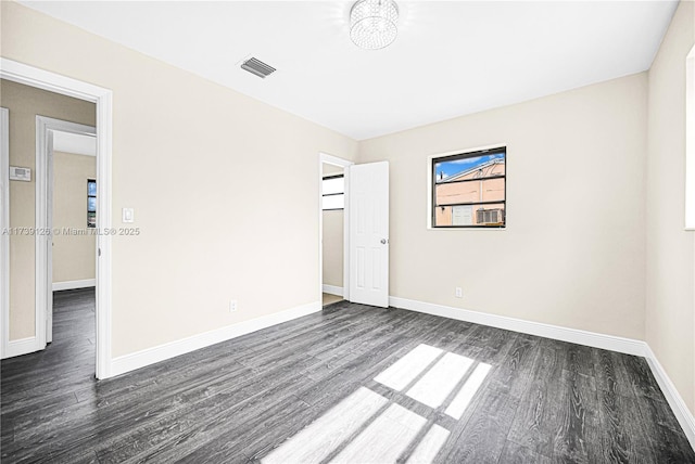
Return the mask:
<svg viewBox="0 0 695 464">
<path fill-rule="evenodd" d="M 46 272 L 42 274 L 46 285 L 37 285 L 37 292 L 47 294 L 46 343 L 52 343 L 55 298 L 62 302 L 60 308 L 65 311 L 72 309 L 65 304 L 71 300 L 66 299 L 66 295 L 76 293 L 72 291 L 90 288 L 77 294 L 91 295 L 92 300 L 94 297 L 98 254 L 97 130 L 93 126 L 45 116 L 37 116 L 36 127 L 38 149 L 42 150 L 37 158 L 41 164 L 37 173 L 41 171 L 46 176 L 46 197 L 37 198 L 37 203 L 39 209 L 46 211 L 45 227 L 51 231 L 47 236 L 46 256 L 37 256 L 37 263 L 46 262 Z M 93 308 L 91 310 L 93 312 Z M 85 325 L 88 327 L 88 338 L 96 340 L 93 314 L 86 312 L 86 318 L 91 320 L 91 324 Z"/>
</svg>

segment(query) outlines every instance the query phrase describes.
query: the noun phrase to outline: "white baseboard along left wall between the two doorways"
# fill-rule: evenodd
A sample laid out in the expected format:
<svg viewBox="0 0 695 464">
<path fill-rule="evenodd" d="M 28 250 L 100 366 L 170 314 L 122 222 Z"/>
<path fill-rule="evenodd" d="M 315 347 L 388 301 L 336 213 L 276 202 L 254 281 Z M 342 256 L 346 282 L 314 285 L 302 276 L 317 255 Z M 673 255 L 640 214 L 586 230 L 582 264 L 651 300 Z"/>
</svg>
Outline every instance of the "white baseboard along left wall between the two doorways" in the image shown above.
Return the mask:
<svg viewBox="0 0 695 464">
<path fill-rule="evenodd" d="M 230 340 L 232 338 L 247 335 L 262 328 L 267 328 L 276 324 L 281 324 L 293 319 L 312 314 L 314 312 L 319 312 L 320 310 L 321 305 L 319 301 L 309 302 L 306 305 L 286 309 L 285 311 L 263 315 L 250 321 L 239 322 L 226 327 L 216 328 L 214 331 L 193 335 L 191 337 L 182 338 L 176 341 L 160 345 L 153 348 L 148 348 L 142 351 L 121 356 L 113 359 L 111 363 L 111 374 L 125 374 L 126 372 L 135 371 L 136 369 L 144 368 L 146 365 L 154 364 L 155 362 L 165 361 L 167 359 L 186 355 L 187 352 L 191 352 L 197 349 Z"/>
</svg>

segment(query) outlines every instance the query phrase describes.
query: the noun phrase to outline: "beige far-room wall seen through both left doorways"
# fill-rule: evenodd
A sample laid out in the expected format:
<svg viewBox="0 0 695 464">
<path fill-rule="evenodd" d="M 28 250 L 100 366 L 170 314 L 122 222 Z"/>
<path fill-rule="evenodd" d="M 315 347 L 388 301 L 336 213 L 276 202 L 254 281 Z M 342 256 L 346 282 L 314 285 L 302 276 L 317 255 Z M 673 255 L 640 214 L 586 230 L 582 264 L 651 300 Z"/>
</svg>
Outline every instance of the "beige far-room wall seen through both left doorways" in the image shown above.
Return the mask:
<svg viewBox="0 0 695 464">
<path fill-rule="evenodd" d="M 87 229 L 87 179 L 97 178 L 94 156 L 53 153 L 53 229 Z M 53 236 L 53 282 L 94 279 L 97 235 Z"/>
</svg>

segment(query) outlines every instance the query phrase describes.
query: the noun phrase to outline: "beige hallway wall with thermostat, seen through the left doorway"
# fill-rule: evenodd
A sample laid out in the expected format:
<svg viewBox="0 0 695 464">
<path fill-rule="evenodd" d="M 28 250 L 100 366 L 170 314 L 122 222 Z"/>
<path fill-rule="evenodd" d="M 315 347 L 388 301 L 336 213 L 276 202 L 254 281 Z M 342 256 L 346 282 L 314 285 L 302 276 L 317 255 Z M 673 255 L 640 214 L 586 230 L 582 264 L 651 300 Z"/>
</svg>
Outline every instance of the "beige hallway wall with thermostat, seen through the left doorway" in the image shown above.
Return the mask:
<svg viewBox="0 0 695 464">
<path fill-rule="evenodd" d="M 3 5 L 4 7 L 4 5 Z M 2 18 L 2 39 L 4 39 Z M 3 47 L 4 56 L 4 47 Z M 33 228 L 36 192 L 36 115 L 94 125 L 93 103 L 1 80 L 0 106 L 10 113 L 10 165 L 31 168 L 31 182 L 10 182 L 10 227 Z M 35 241 L 10 236 L 10 339 L 34 336 Z"/>
</svg>

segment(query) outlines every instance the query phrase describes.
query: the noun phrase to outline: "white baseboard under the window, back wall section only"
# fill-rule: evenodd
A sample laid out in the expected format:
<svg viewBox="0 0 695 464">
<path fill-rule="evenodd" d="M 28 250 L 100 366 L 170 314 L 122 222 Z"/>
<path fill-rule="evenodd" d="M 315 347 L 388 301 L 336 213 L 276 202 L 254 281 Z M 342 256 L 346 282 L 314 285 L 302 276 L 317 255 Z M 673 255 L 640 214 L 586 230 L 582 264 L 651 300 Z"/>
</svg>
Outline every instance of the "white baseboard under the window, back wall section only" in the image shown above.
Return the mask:
<svg viewBox="0 0 695 464">
<path fill-rule="evenodd" d="M 623 352 L 627 355 L 646 356 L 646 344 L 632 338 L 597 334 L 577 328 L 561 327 L 559 325 L 525 321 L 521 319 L 507 318 L 505 315 L 489 314 L 485 312 L 471 311 L 468 309 L 434 305 L 431 302 L 393 296 L 389 297 L 389 305 L 395 308 L 409 309 L 410 311 L 425 312 L 427 314 L 441 315 L 443 318 L 456 319 L 459 321 L 475 322 L 476 324 L 490 325 L 492 327 L 521 332 L 523 334 L 536 335 L 540 337 L 553 338 L 556 340 L 569 341 L 578 345 Z"/>
</svg>

